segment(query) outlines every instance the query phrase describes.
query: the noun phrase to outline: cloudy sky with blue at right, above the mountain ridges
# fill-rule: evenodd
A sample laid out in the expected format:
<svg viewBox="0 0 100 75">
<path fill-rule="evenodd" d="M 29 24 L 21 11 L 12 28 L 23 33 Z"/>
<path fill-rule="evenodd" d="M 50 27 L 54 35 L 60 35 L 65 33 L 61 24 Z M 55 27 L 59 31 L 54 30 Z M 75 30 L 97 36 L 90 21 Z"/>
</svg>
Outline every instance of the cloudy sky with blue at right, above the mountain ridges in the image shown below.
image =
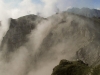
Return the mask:
<svg viewBox="0 0 100 75">
<path fill-rule="evenodd" d="M 0 15 L 18 18 L 28 14 L 51 16 L 59 8 L 66 11 L 72 7 L 100 8 L 100 0 L 0 0 Z"/>
</svg>

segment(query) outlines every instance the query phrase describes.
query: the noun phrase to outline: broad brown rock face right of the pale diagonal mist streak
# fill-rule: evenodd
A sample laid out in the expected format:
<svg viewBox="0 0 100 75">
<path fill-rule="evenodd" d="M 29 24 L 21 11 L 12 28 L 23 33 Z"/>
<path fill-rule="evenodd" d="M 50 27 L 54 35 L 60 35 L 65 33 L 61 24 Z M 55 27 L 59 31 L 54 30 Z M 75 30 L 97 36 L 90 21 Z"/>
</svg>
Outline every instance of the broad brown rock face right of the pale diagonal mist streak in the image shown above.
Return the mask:
<svg viewBox="0 0 100 75">
<path fill-rule="evenodd" d="M 41 58 L 46 56 L 80 59 L 92 65 L 99 60 L 100 25 L 86 17 L 62 13 L 51 17 L 53 24 L 39 48 Z M 50 51 L 50 52 L 49 52 Z M 46 52 L 46 53 L 45 53 Z M 54 54 L 54 56 L 53 56 Z M 52 56 L 51 56 L 52 55 Z M 61 59 L 60 58 L 60 59 Z"/>
</svg>

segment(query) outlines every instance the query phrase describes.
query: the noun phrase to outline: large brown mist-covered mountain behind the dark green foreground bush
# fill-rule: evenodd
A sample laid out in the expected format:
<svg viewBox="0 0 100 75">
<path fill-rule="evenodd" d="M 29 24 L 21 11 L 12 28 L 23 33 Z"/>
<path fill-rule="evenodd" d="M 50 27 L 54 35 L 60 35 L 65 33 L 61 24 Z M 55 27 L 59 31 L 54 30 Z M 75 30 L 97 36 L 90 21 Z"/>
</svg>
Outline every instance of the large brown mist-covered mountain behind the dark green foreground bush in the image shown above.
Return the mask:
<svg viewBox="0 0 100 75">
<path fill-rule="evenodd" d="M 0 74 L 51 75 L 62 59 L 99 65 L 99 21 L 67 12 L 11 19 L 0 46 Z"/>
</svg>

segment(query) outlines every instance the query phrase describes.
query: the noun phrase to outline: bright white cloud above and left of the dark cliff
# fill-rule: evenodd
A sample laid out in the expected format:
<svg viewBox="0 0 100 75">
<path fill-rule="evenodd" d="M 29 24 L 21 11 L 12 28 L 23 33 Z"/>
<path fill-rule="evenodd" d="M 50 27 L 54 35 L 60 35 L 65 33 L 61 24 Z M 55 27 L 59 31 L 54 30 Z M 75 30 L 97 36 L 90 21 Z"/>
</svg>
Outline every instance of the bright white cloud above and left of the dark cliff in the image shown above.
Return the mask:
<svg viewBox="0 0 100 75">
<path fill-rule="evenodd" d="M 41 0 L 42 3 L 36 4 L 32 0 L 0 0 L 0 40 L 7 31 L 9 24 L 8 18 L 18 18 L 28 14 L 41 13 L 41 16 L 48 17 L 55 13 L 56 3 L 59 0 Z"/>
</svg>

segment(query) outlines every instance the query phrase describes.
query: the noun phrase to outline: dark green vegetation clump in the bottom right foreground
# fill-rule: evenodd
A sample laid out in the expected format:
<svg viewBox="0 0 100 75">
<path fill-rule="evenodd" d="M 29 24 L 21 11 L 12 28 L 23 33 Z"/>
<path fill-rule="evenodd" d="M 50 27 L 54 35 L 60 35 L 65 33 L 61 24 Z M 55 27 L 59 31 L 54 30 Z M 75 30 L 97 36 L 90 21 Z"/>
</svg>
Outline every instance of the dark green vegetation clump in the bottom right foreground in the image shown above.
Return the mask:
<svg viewBox="0 0 100 75">
<path fill-rule="evenodd" d="M 61 60 L 53 69 L 52 75 L 100 75 L 100 66 L 89 67 L 82 61 Z"/>
</svg>

